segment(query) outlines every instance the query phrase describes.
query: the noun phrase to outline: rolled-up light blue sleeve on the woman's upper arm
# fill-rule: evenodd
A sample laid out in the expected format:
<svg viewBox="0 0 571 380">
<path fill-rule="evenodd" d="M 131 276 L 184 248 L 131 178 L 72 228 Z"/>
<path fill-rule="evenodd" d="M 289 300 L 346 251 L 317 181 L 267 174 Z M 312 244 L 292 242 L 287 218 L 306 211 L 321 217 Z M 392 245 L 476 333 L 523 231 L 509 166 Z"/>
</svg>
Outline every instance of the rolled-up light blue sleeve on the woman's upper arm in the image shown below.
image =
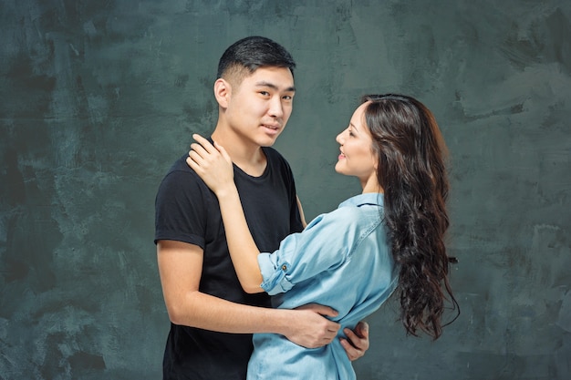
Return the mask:
<svg viewBox="0 0 571 380">
<path fill-rule="evenodd" d="M 277 251 L 258 255 L 261 287 L 272 295 L 285 293 L 298 282 L 342 265 L 357 234 L 358 223 L 347 212 L 319 215 L 304 231 L 287 236 Z"/>
</svg>

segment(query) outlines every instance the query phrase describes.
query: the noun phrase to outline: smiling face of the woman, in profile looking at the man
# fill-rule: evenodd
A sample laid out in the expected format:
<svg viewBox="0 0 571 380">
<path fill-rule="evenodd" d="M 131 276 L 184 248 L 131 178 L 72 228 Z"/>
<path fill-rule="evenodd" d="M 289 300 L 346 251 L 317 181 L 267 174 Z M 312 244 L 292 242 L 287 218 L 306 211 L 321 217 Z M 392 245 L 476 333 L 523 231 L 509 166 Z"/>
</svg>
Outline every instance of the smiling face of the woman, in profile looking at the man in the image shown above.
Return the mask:
<svg viewBox="0 0 571 380">
<path fill-rule="evenodd" d="M 365 124 L 365 108 L 369 102 L 360 105 L 349 122 L 348 128 L 337 135 L 341 154 L 335 170 L 346 176 L 355 176 L 361 182 L 363 192 L 378 191 L 378 155 L 373 150 L 369 127 Z"/>
</svg>

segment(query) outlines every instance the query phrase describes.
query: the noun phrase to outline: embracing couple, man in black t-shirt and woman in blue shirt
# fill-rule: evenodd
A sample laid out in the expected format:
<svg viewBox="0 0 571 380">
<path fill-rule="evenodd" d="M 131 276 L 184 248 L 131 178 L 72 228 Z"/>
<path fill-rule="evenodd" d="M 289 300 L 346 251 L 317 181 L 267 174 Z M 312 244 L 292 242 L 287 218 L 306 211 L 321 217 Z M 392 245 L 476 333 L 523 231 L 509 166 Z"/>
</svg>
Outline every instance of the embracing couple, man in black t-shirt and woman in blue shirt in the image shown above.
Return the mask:
<svg viewBox="0 0 571 380">
<path fill-rule="evenodd" d="M 354 378 L 350 359 L 369 346 L 358 321 L 394 290 L 410 334 L 441 334 L 444 292 L 453 301 L 448 184 L 431 112 L 413 98 L 365 98 L 337 136 L 336 165 L 362 194 L 304 229 L 291 170 L 268 148 L 292 110 L 294 67 L 263 37 L 230 46 L 214 84 L 215 145 L 195 136 L 161 183 L 165 379 L 242 379 L 246 365 L 248 378 Z"/>
</svg>

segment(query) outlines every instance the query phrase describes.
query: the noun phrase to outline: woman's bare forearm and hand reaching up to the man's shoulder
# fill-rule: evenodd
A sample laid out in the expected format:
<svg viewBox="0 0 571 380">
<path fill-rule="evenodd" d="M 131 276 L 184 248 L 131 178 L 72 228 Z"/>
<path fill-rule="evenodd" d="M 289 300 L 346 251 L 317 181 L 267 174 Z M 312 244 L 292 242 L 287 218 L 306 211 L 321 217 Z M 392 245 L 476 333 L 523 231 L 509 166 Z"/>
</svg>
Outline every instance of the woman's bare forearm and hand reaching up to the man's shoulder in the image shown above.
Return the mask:
<svg viewBox="0 0 571 380">
<path fill-rule="evenodd" d="M 192 143 L 186 159 L 188 165 L 213 190 L 220 203 L 228 250 L 238 280 L 246 293 L 261 293 L 263 278 L 257 256 L 260 253 L 248 229 L 240 195 L 234 184 L 232 159 L 223 147 L 214 146 L 199 135 L 192 135 L 199 142 Z"/>
</svg>

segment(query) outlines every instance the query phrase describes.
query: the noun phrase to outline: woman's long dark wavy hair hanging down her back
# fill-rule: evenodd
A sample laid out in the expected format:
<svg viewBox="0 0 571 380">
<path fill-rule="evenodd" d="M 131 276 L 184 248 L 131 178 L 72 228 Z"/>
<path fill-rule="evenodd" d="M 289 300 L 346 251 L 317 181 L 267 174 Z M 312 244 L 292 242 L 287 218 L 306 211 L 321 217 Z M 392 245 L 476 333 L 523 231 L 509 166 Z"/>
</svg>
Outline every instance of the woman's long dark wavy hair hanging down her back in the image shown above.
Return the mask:
<svg viewBox="0 0 571 380">
<path fill-rule="evenodd" d="M 444 234 L 449 184 L 447 149 L 431 111 L 402 95 L 368 95 L 365 121 L 379 155 L 377 178 L 384 190 L 385 222 L 395 262 L 400 320 L 408 334 L 438 339 L 446 301 L 460 313 L 448 281 Z M 455 319 L 455 318 L 454 318 Z"/>
</svg>

